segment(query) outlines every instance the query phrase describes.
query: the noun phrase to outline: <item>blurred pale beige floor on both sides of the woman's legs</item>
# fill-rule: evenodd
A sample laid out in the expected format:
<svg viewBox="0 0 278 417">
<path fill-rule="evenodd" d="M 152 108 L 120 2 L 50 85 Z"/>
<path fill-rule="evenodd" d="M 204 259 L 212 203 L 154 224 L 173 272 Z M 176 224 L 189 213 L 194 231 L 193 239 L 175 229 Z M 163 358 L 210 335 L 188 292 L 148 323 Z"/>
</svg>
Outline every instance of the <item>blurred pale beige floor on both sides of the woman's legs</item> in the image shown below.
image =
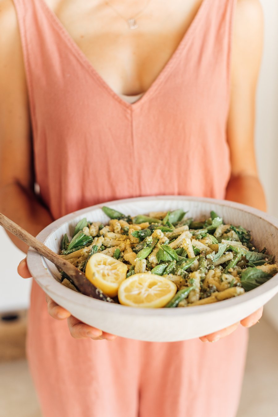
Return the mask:
<svg viewBox="0 0 278 417">
<path fill-rule="evenodd" d="M 0 363 L 0 375 L 0 417 L 42 417 L 26 361 Z M 237 417 L 278 417 L 278 333 L 265 319 L 250 330 Z"/>
</svg>

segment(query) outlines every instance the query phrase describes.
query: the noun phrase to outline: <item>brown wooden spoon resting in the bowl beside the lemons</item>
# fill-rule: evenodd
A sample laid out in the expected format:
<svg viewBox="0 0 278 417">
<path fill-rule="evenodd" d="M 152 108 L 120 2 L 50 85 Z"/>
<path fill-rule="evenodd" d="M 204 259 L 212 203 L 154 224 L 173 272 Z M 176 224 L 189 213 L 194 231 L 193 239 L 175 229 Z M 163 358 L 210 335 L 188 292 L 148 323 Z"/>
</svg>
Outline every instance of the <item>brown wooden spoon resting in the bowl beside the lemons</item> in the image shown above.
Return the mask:
<svg viewBox="0 0 278 417">
<path fill-rule="evenodd" d="M 23 242 L 34 248 L 39 254 L 43 255 L 46 259 L 53 262 L 58 268 L 65 271 L 65 273 L 73 280 L 75 286 L 79 289 L 82 294 L 88 295 L 89 297 L 96 298 L 109 303 L 115 303 L 113 299 L 104 294 L 101 289 L 95 287 L 85 276 L 85 274 L 72 265 L 66 259 L 62 259 L 58 254 L 55 254 L 51 249 L 45 246 L 42 242 L 32 236 L 28 231 L 24 230 L 18 224 L 14 223 L 4 214 L 0 213 L 0 225 L 6 230 L 14 234 Z"/>
</svg>

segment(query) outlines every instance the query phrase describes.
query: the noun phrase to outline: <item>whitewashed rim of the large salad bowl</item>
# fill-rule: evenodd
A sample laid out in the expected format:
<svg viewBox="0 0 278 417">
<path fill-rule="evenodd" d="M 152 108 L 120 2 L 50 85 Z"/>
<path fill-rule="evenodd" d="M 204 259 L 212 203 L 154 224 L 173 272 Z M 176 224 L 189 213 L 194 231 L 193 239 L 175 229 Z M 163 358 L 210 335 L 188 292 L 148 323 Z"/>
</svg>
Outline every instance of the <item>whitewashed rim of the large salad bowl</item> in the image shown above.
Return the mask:
<svg viewBox="0 0 278 417">
<path fill-rule="evenodd" d="M 55 231 L 64 224 L 68 223 L 69 221 L 73 220 L 75 217 L 81 216 L 83 214 L 87 214 L 89 211 L 102 208 L 103 206 L 113 206 L 121 203 L 131 203 L 136 201 L 150 201 L 150 200 L 183 200 L 183 201 L 195 201 L 197 203 L 212 203 L 217 204 L 219 206 L 226 206 L 231 208 L 236 208 L 241 211 L 245 211 L 247 213 L 253 214 L 260 219 L 263 219 L 270 223 L 271 225 L 275 226 L 278 229 L 278 219 L 276 219 L 273 216 L 270 216 L 269 214 L 266 214 L 263 211 L 260 211 L 256 208 L 247 206 L 245 204 L 236 203 L 234 201 L 229 200 L 218 200 L 215 198 L 207 198 L 207 197 L 194 197 L 194 196 L 146 196 L 146 197 L 135 197 L 135 198 L 123 198 L 120 200 L 113 200 L 113 201 L 107 201 L 104 203 L 96 204 L 94 206 L 82 208 L 78 211 L 73 211 L 72 213 L 66 214 L 63 217 L 60 217 L 59 219 L 53 221 L 51 224 L 45 227 L 37 237 L 38 240 L 45 243 L 45 241 L 53 234 Z M 53 276 L 50 274 L 50 272 L 45 269 L 44 265 L 44 257 L 41 256 L 35 249 L 29 248 L 28 254 L 27 254 L 27 264 L 28 268 L 34 277 L 35 281 L 38 282 L 38 284 L 45 289 L 45 291 L 49 290 L 53 294 L 57 294 L 57 296 L 60 299 L 65 299 L 69 301 L 68 295 L 73 294 L 73 291 L 63 285 L 61 285 Z M 42 277 L 43 274 L 43 277 Z M 36 276 L 40 276 L 40 278 L 36 278 Z M 45 279 L 51 279 L 50 283 L 43 284 L 41 281 Z M 56 285 L 57 284 L 57 285 Z M 59 287 L 58 287 L 59 286 Z M 276 286 L 278 286 L 278 274 L 275 274 L 271 279 L 266 281 L 264 284 L 256 287 L 255 289 L 251 291 L 247 291 L 246 293 L 233 297 L 227 300 L 223 300 L 218 303 L 211 303 L 211 304 L 204 304 L 200 306 L 193 306 L 191 308 L 173 308 L 173 309 L 151 309 L 151 308 L 140 308 L 140 307 L 128 307 L 123 306 L 121 304 L 110 304 L 101 300 L 93 299 L 91 297 L 85 296 L 84 294 L 74 292 L 75 294 L 75 300 L 70 297 L 70 302 L 73 304 L 78 304 L 92 308 L 92 310 L 106 310 L 110 309 L 111 313 L 117 313 L 117 314 L 129 314 L 134 316 L 151 316 L 151 317 L 164 317 L 173 315 L 175 316 L 184 316 L 184 317 L 190 317 L 195 314 L 203 314 L 206 312 L 211 311 L 217 311 L 222 309 L 230 309 L 230 307 L 236 306 L 240 303 L 245 303 L 250 301 L 253 298 L 256 298 L 257 296 L 266 293 L 268 291 L 271 291 Z M 55 289 L 57 288 L 57 291 Z M 69 292 L 70 291 L 70 292 Z"/>
</svg>

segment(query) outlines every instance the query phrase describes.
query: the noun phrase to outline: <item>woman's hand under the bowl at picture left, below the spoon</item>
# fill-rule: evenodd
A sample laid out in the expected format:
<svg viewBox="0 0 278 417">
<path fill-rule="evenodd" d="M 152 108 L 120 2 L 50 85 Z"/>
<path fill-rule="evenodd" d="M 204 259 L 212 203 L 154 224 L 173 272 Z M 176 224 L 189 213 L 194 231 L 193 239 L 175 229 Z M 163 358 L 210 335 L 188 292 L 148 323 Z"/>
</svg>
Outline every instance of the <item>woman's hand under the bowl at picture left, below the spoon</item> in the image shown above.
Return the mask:
<svg viewBox="0 0 278 417">
<path fill-rule="evenodd" d="M 27 266 L 26 258 L 23 259 L 18 265 L 18 274 L 22 278 L 30 278 L 31 274 Z M 75 339 L 84 339 L 90 337 L 93 340 L 114 340 L 116 336 L 114 334 L 105 333 L 100 329 L 91 327 L 88 324 L 80 322 L 76 317 L 73 317 L 68 310 L 55 303 L 48 295 L 46 295 L 46 301 L 48 304 L 48 313 L 51 317 L 57 320 L 68 319 L 68 327 L 70 334 Z"/>
</svg>

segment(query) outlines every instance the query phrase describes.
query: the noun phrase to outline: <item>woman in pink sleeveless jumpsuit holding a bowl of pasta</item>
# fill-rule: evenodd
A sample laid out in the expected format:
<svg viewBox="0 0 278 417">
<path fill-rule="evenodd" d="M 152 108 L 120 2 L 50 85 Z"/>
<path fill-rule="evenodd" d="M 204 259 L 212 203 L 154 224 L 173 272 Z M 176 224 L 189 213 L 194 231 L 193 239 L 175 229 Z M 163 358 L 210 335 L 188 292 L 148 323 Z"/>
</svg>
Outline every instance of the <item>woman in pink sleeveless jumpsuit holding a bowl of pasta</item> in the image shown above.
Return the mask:
<svg viewBox="0 0 278 417">
<path fill-rule="evenodd" d="M 141 195 L 265 210 L 253 146 L 262 26 L 258 0 L 2 0 L 0 210 L 33 235 Z M 25 260 L 19 273 L 30 276 Z M 200 338 L 216 344 L 161 344 L 115 339 L 47 301 L 33 283 L 28 359 L 45 417 L 235 416 L 244 327 L 262 311 Z"/>
</svg>

